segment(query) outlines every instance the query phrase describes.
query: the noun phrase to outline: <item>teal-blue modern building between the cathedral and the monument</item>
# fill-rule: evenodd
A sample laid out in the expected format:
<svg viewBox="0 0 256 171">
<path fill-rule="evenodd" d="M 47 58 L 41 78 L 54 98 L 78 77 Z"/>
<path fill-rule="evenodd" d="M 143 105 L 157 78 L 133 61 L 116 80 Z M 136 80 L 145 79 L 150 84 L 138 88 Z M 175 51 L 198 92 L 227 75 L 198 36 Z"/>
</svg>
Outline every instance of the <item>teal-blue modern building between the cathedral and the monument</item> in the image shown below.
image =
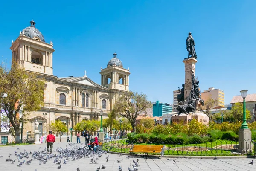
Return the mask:
<svg viewBox="0 0 256 171">
<path fill-rule="evenodd" d="M 170 112 L 172 112 L 172 105 L 171 104 L 159 103 L 158 100 L 155 104 L 153 104 L 153 117 L 154 116 L 160 117 L 163 114 L 168 114 Z"/>
</svg>

